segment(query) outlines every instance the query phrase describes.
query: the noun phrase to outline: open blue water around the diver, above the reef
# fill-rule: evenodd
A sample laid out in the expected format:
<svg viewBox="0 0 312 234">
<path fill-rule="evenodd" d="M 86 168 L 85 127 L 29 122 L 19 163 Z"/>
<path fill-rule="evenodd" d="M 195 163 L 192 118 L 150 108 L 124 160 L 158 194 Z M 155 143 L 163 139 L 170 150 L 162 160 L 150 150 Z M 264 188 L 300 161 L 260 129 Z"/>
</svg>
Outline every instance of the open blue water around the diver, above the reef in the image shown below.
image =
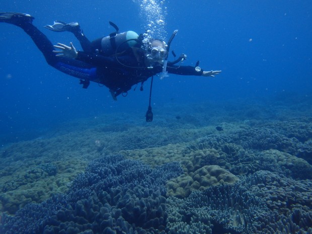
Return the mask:
<svg viewBox="0 0 312 234">
<path fill-rule="evenodd" d="M 2 1 L 0 10 L 29 13 L 35 17 L 33 24 L 53 43 L 72 41 L 80 48 L 71 34 L 43 26 L 54 20 L 77 21 L 91 40 L 113 31 L 108 21 L 120 31 L 142 33 L 147 22 L 140 2 Z M 173 0 L 160 6 L 167 31 L 162 39 L 168 40 L 173 30 L 179 30 L 171 48 L 187 54 L 184 64 L 199 60 L 203 69 L 222 72 L 214 78 L 170 75 L 155 79 L 154 107 L 168 102 L 261 101 L 281 93 L 311 97 L 311 1 Z M 94 83 L 82 89 L 79 80 L 47 65 L 20 28 L 1 23 L 0 29 L 2 144 L 39 137 L 58 123 L 81 117 L 133 112 L 145 121 L 149 82 L 144 92 L 136 89 L 115 102 L 107 88 Z"/>
</svg>

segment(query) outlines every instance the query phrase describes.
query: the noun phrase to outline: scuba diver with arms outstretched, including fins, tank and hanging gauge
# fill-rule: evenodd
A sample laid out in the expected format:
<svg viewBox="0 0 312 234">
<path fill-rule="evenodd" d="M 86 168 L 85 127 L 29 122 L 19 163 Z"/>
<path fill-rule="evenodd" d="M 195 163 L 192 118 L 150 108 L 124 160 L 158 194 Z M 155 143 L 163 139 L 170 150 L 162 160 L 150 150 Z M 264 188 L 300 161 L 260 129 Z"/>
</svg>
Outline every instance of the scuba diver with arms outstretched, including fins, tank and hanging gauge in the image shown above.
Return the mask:
<svg viewBox="0 0 312 234">
<path fill-rule="evenodd" d="M 71 42 L 69 46 L 61 43 L 53 46 L 50 40 L 32 24 L 33 20 L 34 17 L 29 14 L 0 13 L 0 22 L 22 28 L 32 38 L 49 65 L 79 78 L 80 84 L 85 89 L 91 81 L 99 83 L 109 88 L 113 99 L 117 100 L 118 95 L 127 96 L 131 87 L 139 83 L 142 91 L 143 83 L 151 77 L 149 106 L 146 112 L 148 122 L 152 121 L 150 99 L 153 75 L 158 74 L 162 79 L 168 76 L 168 73 L 214 76 L 221 72 L 204 71 L 198 66 L 198 62 L 195 67 L 182 66 L 181 62 L 186 58 L 184 54 L 175 61 L 169 62 L 170 43 L 177 30 L 166 44 L 159 39 L 148 39 L 146 34 L 138 35 L 133 31 L 119 33 L 118 27 L 110 22 L 116 32 L 90 42 L 76 22 L 66 24 L 54 21 L 53 25 L 45 26 L 56 32 L 72 32 L 83 48 L 83 51 L 77 51 Z M 178 62 L 180 64 L 176 65 Z"/>
</svg>

